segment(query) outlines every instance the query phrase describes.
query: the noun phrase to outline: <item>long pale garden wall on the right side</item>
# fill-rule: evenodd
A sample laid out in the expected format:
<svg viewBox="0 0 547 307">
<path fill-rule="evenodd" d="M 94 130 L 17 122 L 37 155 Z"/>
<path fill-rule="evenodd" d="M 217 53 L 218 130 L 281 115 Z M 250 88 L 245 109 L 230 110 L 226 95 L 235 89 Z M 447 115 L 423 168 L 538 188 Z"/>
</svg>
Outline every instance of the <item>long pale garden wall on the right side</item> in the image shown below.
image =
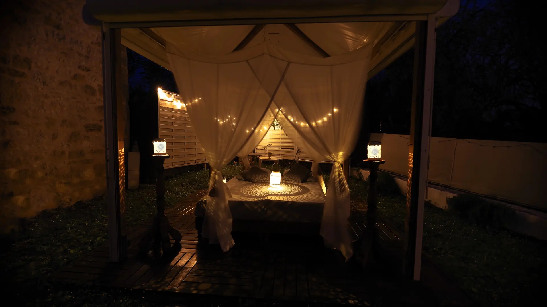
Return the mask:
<svg viewBox="0 0 547 307">
<path fill-rule="evenodd" d="M 382 143 L 382 160 L 386 163 L 380 169 L 408 174 L 409 135 L 372 134 L 371 140 Z M 547 144 L 432 138 L 428 179 L 547 208 Z"/>
</svg>

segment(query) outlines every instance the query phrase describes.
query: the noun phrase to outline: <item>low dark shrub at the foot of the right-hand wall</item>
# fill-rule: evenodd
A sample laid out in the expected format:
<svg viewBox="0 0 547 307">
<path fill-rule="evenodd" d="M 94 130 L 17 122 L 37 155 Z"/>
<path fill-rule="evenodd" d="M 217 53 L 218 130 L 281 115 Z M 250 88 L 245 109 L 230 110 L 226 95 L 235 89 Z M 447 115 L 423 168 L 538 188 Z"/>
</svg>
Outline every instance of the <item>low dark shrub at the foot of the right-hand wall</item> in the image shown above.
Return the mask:
<svg viewBox="0 0 547 307">
<path fill-rule="evenodd" d="M 488 202 L 475 194 L 459 194 L 446 199 L 449 208 L 462 219 L 499 229 L 514 219 L 515 212 L 503 204 Z"/>
</svg>

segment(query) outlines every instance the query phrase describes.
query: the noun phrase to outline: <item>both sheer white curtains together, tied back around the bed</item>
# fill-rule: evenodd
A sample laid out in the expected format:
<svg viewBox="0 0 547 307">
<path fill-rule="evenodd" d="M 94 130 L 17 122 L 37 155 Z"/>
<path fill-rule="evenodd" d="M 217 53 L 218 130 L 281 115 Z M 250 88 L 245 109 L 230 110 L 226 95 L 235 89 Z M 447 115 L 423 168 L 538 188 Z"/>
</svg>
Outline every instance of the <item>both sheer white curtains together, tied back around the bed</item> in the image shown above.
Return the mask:
<svg viewBox="0 0 547 307">
<path fill-rule="evenodd" d="M 231 196 L 219 170 L 234 156 L 251 152 L 280 113 L 284 130 L 298 139 L 315 168 L 325 159 L 335 161 L 321 235 L 327 247 L 340 250 L 346 259 L 352 256 L 350 194 L 341 163 L 358 137 L 370 53 L 370 48 L 361 48 L 311 57 L 262 43 L 213 56 L 167 45 L 179 91 L 213 169 L 203 237 L 220 243 L 224 251 L 234 244 Z"/>
</svg>

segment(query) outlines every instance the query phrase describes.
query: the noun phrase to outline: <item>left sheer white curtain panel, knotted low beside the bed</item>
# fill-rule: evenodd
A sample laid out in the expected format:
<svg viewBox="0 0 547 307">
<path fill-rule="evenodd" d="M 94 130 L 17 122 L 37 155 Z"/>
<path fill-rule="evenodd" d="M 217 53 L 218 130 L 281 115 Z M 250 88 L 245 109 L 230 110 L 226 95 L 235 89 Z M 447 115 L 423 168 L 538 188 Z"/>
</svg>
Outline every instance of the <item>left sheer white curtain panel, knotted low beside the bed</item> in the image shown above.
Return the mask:
<svg viewBox="0 0 547 307">
<path fill-rule="evenodd" d="M 271 95 L 259 80 L 272 79 L 272 58 L 261 50 L 251 54 L 208 58 L 191 50 L 167 45 L 167 55 L 179 91 L 192 118 L 197 138 L 212 173 L 203 219 L 203 238 L 219 243 L 223 251 L 234 245 L 229 188 L 222 182 L 222 169 L 240 154 L 247 155 L 269 129 Z"/>
</svg>

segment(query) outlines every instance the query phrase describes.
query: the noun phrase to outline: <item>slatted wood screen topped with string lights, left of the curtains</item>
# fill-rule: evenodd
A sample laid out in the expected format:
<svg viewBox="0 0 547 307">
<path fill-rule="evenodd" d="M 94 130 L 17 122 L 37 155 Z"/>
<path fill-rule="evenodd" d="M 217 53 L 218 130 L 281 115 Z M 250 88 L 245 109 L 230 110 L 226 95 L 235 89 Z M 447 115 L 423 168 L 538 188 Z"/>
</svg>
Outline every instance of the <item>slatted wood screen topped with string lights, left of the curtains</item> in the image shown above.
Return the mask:
<svg viewBox="0 0 547 307">
<path fill-rule="evenodd" d="M 158 135 L 166 140 L 164 168 L 207 163 L 185 105 L 177 93 L 158 90 Z"/>
</svg>

